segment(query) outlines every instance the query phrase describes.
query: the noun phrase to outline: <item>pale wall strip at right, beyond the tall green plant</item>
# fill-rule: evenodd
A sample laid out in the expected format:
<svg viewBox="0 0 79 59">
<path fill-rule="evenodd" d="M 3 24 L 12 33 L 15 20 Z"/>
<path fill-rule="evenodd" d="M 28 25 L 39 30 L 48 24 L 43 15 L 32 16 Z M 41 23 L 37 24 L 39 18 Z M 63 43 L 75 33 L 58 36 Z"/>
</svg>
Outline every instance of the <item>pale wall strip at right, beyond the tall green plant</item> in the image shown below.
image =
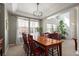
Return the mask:
<svg viewBox="0 0 79 59">
<path fill-rule="evenodd" d="M 71 38 L 77 38 L 77 10 L 74 8 L 70 11 L 70 29 Z"/>
</svg>

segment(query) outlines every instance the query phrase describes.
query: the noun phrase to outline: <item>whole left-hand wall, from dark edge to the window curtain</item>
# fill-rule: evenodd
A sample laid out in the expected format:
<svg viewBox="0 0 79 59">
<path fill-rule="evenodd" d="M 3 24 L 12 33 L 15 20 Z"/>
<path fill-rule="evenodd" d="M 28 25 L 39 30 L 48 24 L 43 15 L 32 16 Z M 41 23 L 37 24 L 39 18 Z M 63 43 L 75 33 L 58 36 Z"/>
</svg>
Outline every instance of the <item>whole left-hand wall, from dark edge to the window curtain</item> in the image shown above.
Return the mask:
<svg viewBox="0 0 79 59">
<path fill-rule="evenodd" d="M 8 14 L 4 4 L 0 4 L 0 36 L 4 39 L 3 52 L 6 54 L 9 43 L 16 43 L 16 17 Z"/>
</svg>

